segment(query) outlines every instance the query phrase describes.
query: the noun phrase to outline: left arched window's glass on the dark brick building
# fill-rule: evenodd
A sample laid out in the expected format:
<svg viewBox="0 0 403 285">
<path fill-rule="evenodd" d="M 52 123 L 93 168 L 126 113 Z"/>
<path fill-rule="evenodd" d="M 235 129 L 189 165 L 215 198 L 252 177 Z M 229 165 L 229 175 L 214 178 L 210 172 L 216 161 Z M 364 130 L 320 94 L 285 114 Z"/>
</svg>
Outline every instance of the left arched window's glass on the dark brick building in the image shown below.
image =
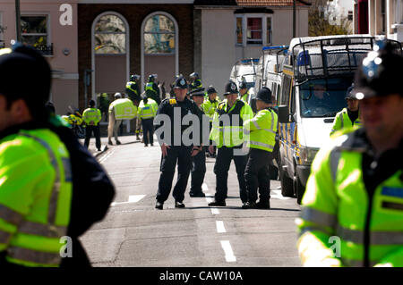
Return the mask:
<svg viewBox="0 0 403 285">
<path fill-rule="evenodd" d="M 126 29 L 116 15 L 104 15 L 95 25 L 95 54 L 125 54 Z"/>
</svg>

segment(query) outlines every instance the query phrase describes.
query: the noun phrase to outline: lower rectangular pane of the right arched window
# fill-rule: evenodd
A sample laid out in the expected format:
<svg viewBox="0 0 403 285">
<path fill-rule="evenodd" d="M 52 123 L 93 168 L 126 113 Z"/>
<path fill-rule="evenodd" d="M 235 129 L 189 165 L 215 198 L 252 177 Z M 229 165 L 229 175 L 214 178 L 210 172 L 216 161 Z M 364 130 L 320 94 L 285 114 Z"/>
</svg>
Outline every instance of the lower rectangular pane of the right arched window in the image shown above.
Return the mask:
<svg viewBox="0 0 403 285">
<path fill-rule="evenodd" d="M 175 34 L 144 33 L 145 54 L 174 54 Z"/>
</svg>

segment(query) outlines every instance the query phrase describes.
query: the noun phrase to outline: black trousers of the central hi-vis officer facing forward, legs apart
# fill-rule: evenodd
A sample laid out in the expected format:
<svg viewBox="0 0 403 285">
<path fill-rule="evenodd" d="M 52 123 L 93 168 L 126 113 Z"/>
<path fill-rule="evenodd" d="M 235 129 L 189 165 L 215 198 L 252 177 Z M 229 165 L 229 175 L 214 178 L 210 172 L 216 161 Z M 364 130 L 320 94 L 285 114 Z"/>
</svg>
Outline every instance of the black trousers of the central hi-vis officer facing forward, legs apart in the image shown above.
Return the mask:
<svg viewBox="0 0 403 285">
<path fill-rule="evenodd" d="M 224 201 L 227 198 L 227 180 L 231 161 L 236 164 L 236 174 L 239 183 L 239 195 L 242 202 L 247 202 L 246 186 L 244 182 L 244 168 L 246 166 L 247 155 L 234 155 L 234 147 L 221 147 L 214 164 L 216 173 L 216 201 Z"/>
</svg>

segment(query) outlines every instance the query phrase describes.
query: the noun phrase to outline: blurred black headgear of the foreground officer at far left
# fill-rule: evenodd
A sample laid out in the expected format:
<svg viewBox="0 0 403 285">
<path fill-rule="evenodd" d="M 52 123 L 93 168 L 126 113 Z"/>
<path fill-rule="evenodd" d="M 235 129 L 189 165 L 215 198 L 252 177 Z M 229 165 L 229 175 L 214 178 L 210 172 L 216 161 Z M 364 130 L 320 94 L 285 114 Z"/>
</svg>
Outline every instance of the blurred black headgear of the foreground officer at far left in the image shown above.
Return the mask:
<svg viewBox="0 0 403 285">
<path fill-rule="evenodd" d="M 22 98 L 30 109 L 44 107 L 49 99 L 51 70 L 47 60 L 30 46 L 16 44 L 0 55 L 0 94 Z"/>
</svg>

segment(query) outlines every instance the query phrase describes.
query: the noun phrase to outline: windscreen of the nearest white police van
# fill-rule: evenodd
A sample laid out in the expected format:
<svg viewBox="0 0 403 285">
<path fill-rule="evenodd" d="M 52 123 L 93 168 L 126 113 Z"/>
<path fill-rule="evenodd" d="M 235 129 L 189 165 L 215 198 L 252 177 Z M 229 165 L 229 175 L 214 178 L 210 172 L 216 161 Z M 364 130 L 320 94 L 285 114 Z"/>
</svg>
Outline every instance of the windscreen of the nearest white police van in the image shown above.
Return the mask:
<svg viewBox="0 0 403 285">
<path fill-rule="evenodd" d="M 300 85 L 303 117 L 334 117 L 347 106 L 346 91 L 353 77 L 308 80 Z"/>
</svg>

